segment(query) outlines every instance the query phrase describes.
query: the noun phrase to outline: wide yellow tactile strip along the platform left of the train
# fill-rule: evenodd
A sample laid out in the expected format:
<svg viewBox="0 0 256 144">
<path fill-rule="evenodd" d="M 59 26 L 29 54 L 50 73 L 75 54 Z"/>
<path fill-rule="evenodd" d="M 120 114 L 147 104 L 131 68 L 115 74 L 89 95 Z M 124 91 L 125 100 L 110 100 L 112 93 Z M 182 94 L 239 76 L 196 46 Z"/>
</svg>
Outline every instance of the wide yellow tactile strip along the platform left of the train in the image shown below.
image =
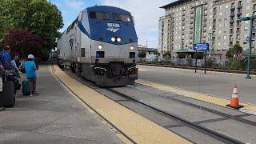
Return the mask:
<svg viewBox="0 0 256 144">
<path fill-rule="evenodd" d="M 178 134 L 166 130 L 162 126 L 134 113 L 117 102 L 70 78 L 66 73 L 54 66 L 54 74 L 69 87 L 74 94 L 82 98 L 89 106 L 106 118 L 114 126 L 122 130 L 129 138 L 138 143 L 191 143 Z"/>
</svg>

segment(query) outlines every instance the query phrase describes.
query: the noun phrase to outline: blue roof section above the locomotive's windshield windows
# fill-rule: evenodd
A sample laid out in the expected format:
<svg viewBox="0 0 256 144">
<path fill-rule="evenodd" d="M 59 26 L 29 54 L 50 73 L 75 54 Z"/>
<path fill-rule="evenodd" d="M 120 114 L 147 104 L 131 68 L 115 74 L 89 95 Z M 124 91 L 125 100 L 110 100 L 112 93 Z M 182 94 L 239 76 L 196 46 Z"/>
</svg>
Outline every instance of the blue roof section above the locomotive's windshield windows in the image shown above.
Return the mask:
<svg viewBox="0 0 256 144">
<path fill-rule="evenodd" d="M 120 9 L 114 6 L 92 6 L 88 7 L 86 10 L 95 11 L 95 12 L 106 12 L 106 13 L 117 13 L 117 14 L 128 14 L 130 15 L 129 11 Z"/>
</svg>

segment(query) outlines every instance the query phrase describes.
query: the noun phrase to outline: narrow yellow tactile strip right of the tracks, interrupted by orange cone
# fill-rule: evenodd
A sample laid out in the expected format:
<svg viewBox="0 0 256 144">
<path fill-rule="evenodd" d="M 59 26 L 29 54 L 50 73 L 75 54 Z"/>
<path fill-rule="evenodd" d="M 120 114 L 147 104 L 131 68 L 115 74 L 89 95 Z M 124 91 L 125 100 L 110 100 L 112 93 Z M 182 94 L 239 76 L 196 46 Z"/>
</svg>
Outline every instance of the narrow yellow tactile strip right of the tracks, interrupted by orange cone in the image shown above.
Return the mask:
<svg viewBox="0 0 256 144">
<path fill-rule="evenodd" d="M 217 97 L 207 95 L 207 94 L 200 94 L 200 93 L 190 91 L 190 90 L 183 90 L 178 87 L 167 86 L 167 85 L 163 85 L 163 84 L 160 84 L 157 82 L 150 82 L 150 81 L 145 81 L 142 79 L 138 79 L 136 82 L 138 82 L 139 84 L 145 85 L 145 86 L 151 86 L 151 87 L 157 88 L 158 90 L 169 91 L 174 94 L 179 94 L 179 95 L 182 95 L 182 96 L 185 96 L 188 98 L 194 98 L 194 99 L 197 99 L 197 100 L 200 100 L 203 102 L 213 103 L 218 106 L 226 106 L 227 104 L 230 104 L 230 100 L 228 100 L 228 99 L 217 98 Z M 244 106 L 243 108 L 240 109 L 241 111 L 248 112 L 250 114 L 256 114 L 256 106 L 255 105 L 241 103 L 241 102 L 240 102 L 240 104 L 242 106 Z"/>
</svg>

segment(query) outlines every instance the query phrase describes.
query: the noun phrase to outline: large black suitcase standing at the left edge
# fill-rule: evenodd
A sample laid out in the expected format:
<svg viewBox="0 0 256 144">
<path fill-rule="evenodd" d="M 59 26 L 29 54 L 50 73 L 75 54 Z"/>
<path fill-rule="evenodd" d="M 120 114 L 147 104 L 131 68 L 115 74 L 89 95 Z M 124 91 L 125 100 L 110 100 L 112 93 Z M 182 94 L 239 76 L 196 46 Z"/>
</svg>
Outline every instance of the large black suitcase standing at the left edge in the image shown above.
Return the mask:
<svg viewBox="0 0 256 144">
<path fill-rule="evenodd" d="M 14 96 L 14 82 L 6 81 L 2 86 L 2 92 L 0 92 L 0 106 L 13 107 L 15 104 Z"/>
</svg>

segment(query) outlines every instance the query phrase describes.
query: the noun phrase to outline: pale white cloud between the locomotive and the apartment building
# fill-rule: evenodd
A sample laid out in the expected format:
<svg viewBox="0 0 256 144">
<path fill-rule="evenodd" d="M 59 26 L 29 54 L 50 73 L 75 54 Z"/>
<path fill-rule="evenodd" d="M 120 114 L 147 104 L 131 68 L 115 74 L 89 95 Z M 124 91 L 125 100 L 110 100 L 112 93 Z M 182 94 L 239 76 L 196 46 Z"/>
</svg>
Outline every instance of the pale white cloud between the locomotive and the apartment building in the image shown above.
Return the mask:
<svg viewBox="0 0 256 144">
<path fill-rule="evenodd" d="M 130 11 L 134 16 L 139 44 L 158 47 L 158 19 L 165 15 L 160 9 L 174 0 L 103 0 L 102 5 L 116 6 Z"/>
</svg>

